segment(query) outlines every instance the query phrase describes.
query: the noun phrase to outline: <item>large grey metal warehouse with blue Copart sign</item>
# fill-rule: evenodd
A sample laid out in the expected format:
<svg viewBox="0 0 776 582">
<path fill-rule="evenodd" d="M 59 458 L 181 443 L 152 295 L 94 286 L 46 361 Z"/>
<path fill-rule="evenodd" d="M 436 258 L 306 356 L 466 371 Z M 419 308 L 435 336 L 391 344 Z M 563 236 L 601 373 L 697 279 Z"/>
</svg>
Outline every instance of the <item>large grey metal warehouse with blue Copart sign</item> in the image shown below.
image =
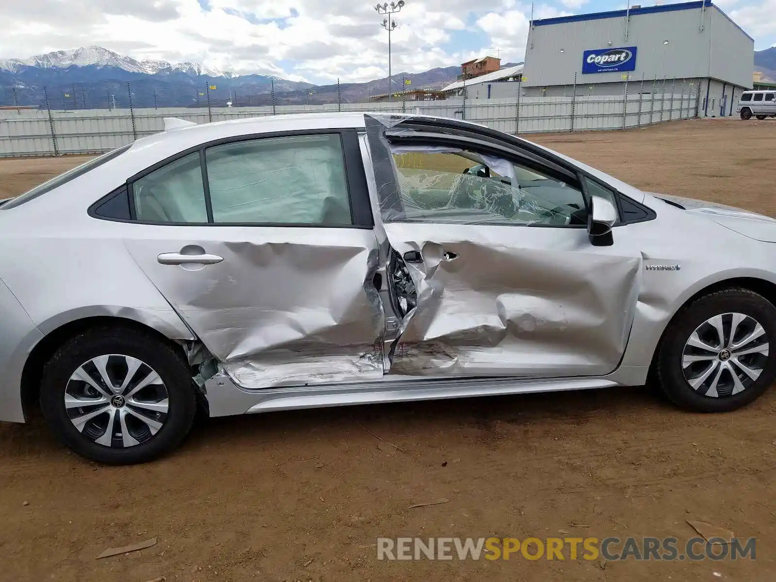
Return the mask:
<svg viewBox="0 0 776 582">
<path fill-rule="evenodd" d="M 754 40 L 711 0 L 534 20 L 522 95 L 698 92 L 699 116 L 729 116 L 752 86 Z"/>
</svg>

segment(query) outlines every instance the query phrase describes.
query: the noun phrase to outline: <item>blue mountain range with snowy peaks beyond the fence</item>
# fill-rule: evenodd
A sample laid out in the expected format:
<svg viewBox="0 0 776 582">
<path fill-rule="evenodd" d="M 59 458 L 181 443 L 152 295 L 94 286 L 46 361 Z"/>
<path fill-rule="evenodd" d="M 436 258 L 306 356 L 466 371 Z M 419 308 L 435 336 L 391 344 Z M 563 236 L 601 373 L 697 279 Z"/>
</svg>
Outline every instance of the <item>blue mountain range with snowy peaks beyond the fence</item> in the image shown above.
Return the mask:
<svg viewBox="0 0 776 582">
<path fill-rule="evenodd" d="M 507 63 L 503 67 L 513 66 Z M 766 78 L 776 77 L 776 47 L 754 53 Z M 456 81 L 458 65 L 421 73 L 393 75 L 391 91 L 442 88 Z M 404 80 L 410 85 L 404 85 Z M 32 105 L 51 109 L 109 107 L 261 106 L 365 101 L 389 92 L 388 79 L 363 83 L 313 85 L 265 74 L 237 74 L 200 63 L 137 61 L 102 47 L 57 50 L 26 59 L 0 59 L 0 106 Z"/>
</svg>

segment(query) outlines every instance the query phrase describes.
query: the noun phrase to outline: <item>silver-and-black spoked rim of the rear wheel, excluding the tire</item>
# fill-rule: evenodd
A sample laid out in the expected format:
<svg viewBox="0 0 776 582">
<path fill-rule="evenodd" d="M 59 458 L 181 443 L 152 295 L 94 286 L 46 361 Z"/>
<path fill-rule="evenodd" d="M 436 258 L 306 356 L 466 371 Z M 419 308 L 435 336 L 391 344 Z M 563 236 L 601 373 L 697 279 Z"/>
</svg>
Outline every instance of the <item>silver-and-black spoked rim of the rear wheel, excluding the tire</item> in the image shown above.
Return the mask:
<svg viewBox="0 0 776 582">
<path fill-rule="evenodd" d="M 123 448 L 161 430 L 169 411 L 158 373 L 128 355 L 100 355 L 78 366 L 64 390 L 73 426 L 98 445 Z"/>
</svg>

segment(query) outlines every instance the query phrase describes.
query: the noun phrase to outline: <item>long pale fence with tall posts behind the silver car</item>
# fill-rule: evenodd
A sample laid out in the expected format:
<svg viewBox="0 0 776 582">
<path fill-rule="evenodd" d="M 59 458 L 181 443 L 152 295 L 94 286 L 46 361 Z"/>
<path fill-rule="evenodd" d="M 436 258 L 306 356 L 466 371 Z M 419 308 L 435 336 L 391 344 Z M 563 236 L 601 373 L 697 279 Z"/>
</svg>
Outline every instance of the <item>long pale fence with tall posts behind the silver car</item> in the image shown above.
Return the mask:
<svg viewBox="0 0 776 582">
<path fill-rule="evenodd" d="M 372 111 L 417 113 L 455 117 L 482 123 L 506 133 L 583 130 L 627 130 L 698 115 L 700 83 L 697 80 L 662 79 L 623 84 L 622 95 L 585 94 L 573 85 L 570 95 L 526 97 L 520 81 L 508 85 L 512 97 L 469 98 L 459 95 L 438 101 L 407 101 L 400 95 L 391 102 L 346 102 L 337 86 L 336 102 L 307 103 L 299 95 L 286 102 L 275 95 L 248 94 L 234 89 L 219 92 L 217 85 L 196 88 L 189 105 L 171 106 L 176 95 L 159 95 L 154 88 L 130 83 L 106 91 L 57 92 L 43 87 L 40 103 L 24 103 L 19 88 L 0 87 L 0 157 L 95 154 L 164 130 L 165 117 L 195 123 L 232 120 L 285 113 Z M 215 87 L 215 88 L 213 88 Z M 116 88 L 115 91 L 111 90 Z M 123 89 L 119 91 L 119 88 Z M 589 91 L 589 89 L 587 89 Z M 559 89 L 555 88 L 558 92 Z M 310 97 L 312 95 L 308 95 Z M 319 95 L 320 98 L 320 95 Z"/>
</svg>

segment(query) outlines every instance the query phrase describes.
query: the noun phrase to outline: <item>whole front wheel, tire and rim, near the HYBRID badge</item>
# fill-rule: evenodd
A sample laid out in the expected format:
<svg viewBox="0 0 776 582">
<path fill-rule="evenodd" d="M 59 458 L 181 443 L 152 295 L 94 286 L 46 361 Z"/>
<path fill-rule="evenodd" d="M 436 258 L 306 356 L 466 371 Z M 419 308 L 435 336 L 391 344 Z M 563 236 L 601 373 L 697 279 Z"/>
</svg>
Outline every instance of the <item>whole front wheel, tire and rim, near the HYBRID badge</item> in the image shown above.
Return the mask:
<svg viewBox="0 0 776 582">
<path fill-rule="evenodd" d="M 660 386 L 675 404 L 727 412 L 760 397 L 776 376 L 776 307 L 748 289 L 724 289 L 684 307 L 657 359 Z"/>
</svg>

